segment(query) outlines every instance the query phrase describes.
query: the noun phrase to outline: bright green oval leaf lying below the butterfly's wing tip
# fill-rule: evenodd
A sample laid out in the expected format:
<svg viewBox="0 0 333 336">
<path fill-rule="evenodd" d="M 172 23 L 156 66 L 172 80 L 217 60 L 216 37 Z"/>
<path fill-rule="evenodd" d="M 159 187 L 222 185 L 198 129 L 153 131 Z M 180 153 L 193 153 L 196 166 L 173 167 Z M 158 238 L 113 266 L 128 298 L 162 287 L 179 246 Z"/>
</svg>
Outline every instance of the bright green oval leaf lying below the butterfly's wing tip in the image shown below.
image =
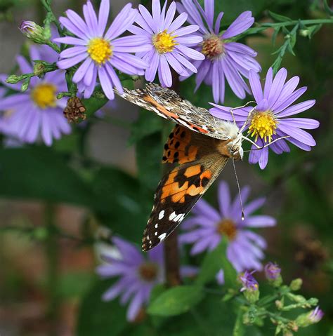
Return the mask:
<svg viewBox="0 0 333 336">
<path fill-rule="evenodd" d="M 148 314 L 175 316 L 189 311 L 204 297 L 202 288 L 192 285 L 178 286 L 166 290 L 148 307 Z"/>
</svg>

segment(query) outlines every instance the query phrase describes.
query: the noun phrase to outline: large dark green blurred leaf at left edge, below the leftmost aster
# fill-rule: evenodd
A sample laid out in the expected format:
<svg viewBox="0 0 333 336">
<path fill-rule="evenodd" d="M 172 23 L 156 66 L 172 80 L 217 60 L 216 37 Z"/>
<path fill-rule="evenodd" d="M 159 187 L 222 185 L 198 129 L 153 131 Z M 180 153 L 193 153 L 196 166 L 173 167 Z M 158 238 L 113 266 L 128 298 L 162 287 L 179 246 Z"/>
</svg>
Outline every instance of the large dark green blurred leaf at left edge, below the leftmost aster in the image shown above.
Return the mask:
<svg viewBox="0 0 333 336">
<path fill-rule="evenodd" d="M 0 196 L 89 207 L 91 188 L 47 147 L 0 149 Z"/>
</svg>

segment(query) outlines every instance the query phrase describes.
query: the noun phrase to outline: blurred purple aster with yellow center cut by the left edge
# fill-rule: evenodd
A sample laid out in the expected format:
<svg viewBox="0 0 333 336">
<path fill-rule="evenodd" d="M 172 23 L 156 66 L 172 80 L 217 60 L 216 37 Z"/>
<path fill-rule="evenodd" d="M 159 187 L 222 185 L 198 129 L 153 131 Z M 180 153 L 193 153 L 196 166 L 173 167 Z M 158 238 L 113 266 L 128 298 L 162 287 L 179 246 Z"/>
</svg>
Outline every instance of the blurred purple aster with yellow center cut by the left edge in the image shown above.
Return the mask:
<svg viewBox="0 0 333 336">
<path fill-rule="evenodd" d="M 48 60 L 58 60 L 58 53 L 47 46 L 30 47 L 32 60 L 44 60 L 45 53 L 48 53 Z M 22 74 L 33 72 L 33 65 L 23 56 L 18 55 L 17 62 Z M 4 85 L 16 92 L 0 98 L 2 133 L 28 143 L 36 142 L 41 136 L 48 146 L 52 145 L 53 138 L 59 139 L 62 134 L 70 133 L 71 128 L 63 116 L 67 98 L 57 100 L 57 94 L 67 90 L 62 70 L 48 72 L 43 79 L 32 77 L 24 93 L 20 92 L 20 84 L 8 84 L 5 79 L 2 75 Z"/>
</svg>

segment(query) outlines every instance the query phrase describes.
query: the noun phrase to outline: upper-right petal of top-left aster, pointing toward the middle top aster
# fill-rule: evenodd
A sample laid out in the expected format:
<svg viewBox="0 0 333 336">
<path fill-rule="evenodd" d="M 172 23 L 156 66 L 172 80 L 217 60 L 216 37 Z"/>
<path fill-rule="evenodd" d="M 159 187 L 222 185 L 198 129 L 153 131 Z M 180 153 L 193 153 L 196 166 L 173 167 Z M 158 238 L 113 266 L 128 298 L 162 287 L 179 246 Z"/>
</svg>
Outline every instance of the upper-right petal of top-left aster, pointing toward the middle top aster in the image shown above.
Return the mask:
<svg viewBox="0 0 333 336">
<path fill-rule="evenodd" d="M 126 30 L 131 27 L 134 20 L 138 16 L 138 11 L 136 9 L 131 9 L 131 4 L 127 4 L 122 8 L 122 11 L 116 16 L 115 20 L 113 20 L 110 28 L 107 29 L 105 33 L 105 39 L 112 40 L 122 33 L 126 32 Z"/>
</svg>

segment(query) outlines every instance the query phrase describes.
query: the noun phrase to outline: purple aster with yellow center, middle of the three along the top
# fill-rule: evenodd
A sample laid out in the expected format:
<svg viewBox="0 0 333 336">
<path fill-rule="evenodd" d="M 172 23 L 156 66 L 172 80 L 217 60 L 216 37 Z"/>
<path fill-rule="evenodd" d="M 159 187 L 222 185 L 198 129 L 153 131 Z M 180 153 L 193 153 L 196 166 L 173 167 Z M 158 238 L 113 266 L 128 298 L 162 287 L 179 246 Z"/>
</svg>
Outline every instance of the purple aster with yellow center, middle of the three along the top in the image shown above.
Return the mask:
<svg viewBox="0 0 333 336">
<path fill-rule="evenodd" d="M 129 31 L 138 38 L 144 39 L 148 51 L 137 51 L 136 55 L 148 62 L 150 67 L 145 71 L 145 79 L 154 81 L 158 72 L 162 86 L 172 84 L 170 67 L 178 74 L 188 76 L 197 72 L 197 68 L 190 60 L 204 60 L 202 53 L 190 48 L 193 43 L 202 42 L 202 37 L 193 35 L 199 29 L 197 25 L 182 27 L 188 18 L 186 13 L 181 13 L 176 19 L 176 3 L 171 2 L 168 11 L 166 3 L 161 11 L 159 0 L 152 0 L 152 15 L 148 10 L 139 5 L 141 15 L 136 18 L 140 27 L 132 26 Z"/>
</svg>

